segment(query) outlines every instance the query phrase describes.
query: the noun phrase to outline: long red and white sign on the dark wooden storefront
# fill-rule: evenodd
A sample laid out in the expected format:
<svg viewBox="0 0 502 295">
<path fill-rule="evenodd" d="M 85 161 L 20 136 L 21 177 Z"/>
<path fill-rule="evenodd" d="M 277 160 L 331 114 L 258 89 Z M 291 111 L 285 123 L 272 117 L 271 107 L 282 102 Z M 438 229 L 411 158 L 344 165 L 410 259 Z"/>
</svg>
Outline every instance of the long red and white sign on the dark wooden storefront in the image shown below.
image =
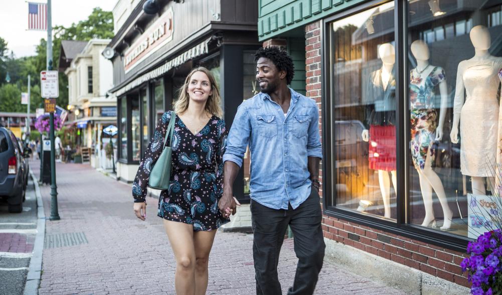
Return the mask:
<svg viewBox="0 0 502 295">
<path fill-rule="evenodd" d="M 155 21 L 126 52 L 124 55 L 126 73 L 171 40 L 173 40 L 172 8 Z"/>
</svg>

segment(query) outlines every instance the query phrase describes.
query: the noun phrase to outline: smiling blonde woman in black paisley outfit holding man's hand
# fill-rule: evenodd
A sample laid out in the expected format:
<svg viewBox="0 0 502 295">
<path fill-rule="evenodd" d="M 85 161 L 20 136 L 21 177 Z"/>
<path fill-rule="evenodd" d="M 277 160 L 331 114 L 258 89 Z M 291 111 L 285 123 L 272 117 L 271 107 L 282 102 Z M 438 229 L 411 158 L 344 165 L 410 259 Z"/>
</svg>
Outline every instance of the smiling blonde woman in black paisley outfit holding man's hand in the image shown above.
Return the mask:
<svg viewBox="0 0 502 295">
<path fill-rule="evenodd" d="M 222 216 L 218 210 L 227 137 L 225 122 L 220 119 L 220 101 L 211 72 L 204 67 L 193 69 L 180 89 L 174 113 L 166 112 L 159 120 L 133 183 L 134 212 L 145 220 L 150 171 L 162 152 L 171 116 L 175 116 L 170 139 L 171 182 L 169 189 L 161 192 L 158 216 L 164 219 L 176 257 L 177 294 L 205 294 L 216 229 L 229 221 L 228 214 Z"/>
</svg>

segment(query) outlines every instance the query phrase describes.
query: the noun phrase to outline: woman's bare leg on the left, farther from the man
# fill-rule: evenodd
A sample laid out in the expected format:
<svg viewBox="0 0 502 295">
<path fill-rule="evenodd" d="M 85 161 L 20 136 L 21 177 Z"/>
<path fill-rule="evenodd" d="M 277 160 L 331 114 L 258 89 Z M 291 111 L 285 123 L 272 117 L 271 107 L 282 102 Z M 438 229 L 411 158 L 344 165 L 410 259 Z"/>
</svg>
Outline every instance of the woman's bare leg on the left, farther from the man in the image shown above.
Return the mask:
<svg viewBox="0 0 502 295">
<path fill-rule="evenodd" d="M 177 295 L 195 294 L 195 248 L 193 226 L 164 219 L 169 242 L 176 258 L 174 285 Z"/>
</svg>

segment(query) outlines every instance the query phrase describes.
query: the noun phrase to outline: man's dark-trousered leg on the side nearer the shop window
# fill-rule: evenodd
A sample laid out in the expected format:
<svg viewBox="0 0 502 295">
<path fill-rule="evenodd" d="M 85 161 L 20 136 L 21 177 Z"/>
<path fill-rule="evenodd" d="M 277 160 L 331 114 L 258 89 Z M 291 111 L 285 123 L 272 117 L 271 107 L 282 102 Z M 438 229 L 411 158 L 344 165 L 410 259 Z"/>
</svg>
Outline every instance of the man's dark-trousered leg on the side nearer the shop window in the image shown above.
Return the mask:
<svg viewBox="0 0 502 295">
<path fill-rule="evenodd" d="M 319 194 L 312 189 L 305 200 L 291 216 L 295 253 L 298 257 L 295 282 L 289 288 L 289 295 L 312 294 L 324 259 L 324 238 L 322 235 L 322 212 Z"/>
</svg>

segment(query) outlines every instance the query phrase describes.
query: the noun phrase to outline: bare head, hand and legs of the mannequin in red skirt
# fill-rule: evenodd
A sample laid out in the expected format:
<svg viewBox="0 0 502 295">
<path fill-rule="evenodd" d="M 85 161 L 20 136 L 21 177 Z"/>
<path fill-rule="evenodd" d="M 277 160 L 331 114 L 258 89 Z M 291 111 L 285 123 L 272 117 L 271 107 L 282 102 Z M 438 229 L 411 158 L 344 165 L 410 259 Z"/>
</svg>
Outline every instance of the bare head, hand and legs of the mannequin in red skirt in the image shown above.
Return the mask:
<svg viewBox="0 0 502 295">
<path fill-rule="evenodd" d="M 378 52 L 383 64 L 381 69 L 381 79 L 384 89 L 387 89 L 390 81 L 394 79 L 392 72 L 394 64 L 396 63 L 396 52 L 394 46 L 390 43 L 380 45 Z M 361 137 L 362 140 L 368 142 L 369 131 L 367 129 L 363 130 Z M 392 170 L 391 175 L 394 191 L 397 191 L 396 170 Z M 382 193 L 382 199 L 384 201 L 384 217 L 391 218 L 391 181 L 389 179 L 389 172 L 386 170 L 378 170 L 378 179 L 380 184 L 380 191 Z"/>
</svg>

